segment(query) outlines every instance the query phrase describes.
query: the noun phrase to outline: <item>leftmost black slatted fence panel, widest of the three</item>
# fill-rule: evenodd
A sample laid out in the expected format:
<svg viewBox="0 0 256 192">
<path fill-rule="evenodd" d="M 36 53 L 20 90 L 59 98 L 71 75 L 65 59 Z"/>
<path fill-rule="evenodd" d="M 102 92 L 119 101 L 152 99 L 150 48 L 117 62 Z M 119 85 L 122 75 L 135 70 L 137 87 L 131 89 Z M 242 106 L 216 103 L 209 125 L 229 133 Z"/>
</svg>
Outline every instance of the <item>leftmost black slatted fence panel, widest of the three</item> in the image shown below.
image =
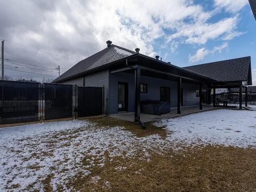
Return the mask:
<svg viewBox="0 0 256 192">
<path fill-rule="evenodd" d="M 40 120 L 40 83 L 0 81 L 0 124 Z"/>
</svg>

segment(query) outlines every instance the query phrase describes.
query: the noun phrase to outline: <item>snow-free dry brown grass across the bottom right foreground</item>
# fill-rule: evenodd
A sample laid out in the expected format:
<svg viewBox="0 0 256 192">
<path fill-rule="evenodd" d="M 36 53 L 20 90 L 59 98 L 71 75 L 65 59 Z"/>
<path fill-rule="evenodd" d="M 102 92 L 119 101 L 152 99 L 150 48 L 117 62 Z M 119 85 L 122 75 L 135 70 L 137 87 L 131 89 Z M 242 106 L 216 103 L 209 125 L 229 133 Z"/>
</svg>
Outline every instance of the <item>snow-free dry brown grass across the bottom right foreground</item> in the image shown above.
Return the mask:
<svg viewBox="0 0 256 192">
<path fill-rule="evenodd" d="M 139 156 L 139 154 L 138 154 Z M 164 155 L 151 161 L 105 154 L 103 167 L 92 174 L 78 173 L 69 185 L 80 191 L 255 191 L 256 151 L 237 147 L 205 146 Z M 87 157 L 88 158 L 88 157 Z M 112 159 L 112 160 L 110 160 Z M 115 167 L 126 167 L 122 170 Z M 95 181 L 94 176 L 100 179 Z M 109 183 L 108 183 L 109 182 Z"/>
</svg>

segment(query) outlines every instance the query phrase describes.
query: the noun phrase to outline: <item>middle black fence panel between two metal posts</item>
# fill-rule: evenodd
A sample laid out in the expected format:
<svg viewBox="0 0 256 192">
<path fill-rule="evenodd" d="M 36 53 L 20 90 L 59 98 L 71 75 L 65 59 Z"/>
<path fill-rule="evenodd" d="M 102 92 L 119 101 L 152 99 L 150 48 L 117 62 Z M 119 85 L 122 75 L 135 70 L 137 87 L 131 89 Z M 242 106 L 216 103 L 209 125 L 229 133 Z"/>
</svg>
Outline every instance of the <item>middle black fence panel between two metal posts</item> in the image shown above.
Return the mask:
<svg viewBox="0 0 256 192">
<path fill-rule="evenodd" d="M 70 84 L 42 84 L 44 120 L 73 116 L 73 87 Z"/>
</svg>

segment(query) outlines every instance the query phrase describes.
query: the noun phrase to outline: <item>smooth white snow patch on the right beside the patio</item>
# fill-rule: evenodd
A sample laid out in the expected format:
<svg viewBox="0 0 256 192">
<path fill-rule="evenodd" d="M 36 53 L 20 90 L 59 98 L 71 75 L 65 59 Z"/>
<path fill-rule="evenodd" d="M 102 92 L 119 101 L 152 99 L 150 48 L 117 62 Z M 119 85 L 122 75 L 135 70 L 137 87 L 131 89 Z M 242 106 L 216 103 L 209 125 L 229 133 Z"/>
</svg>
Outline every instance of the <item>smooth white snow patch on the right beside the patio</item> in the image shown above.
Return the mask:
<svg viewBox="0 0 256 192">
<path fill-rule="evenodd" d="M 163 119 L 166 140 L 182 144 L 222 144 L 238 147 L 256 146 L 256 112 L 215 110 L 175 119 Z"/>
</svg>

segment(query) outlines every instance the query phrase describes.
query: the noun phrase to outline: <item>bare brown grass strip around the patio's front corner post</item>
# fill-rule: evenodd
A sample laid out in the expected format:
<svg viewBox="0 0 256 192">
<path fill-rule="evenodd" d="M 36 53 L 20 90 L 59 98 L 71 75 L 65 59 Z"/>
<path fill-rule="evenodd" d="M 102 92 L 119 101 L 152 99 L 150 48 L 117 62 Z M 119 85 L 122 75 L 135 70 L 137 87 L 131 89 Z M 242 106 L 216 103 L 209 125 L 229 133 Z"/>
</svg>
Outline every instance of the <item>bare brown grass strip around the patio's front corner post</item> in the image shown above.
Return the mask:
<svg viewBox="0 0 256 192">
<path fill-rule="evenodd" d="M 154 134 L 159 134 L 163 139 L 166 138 L 166 131 L 164 130 L 164 126 L 157 127 L 152 122 L 145 123 L 146 129 L 142 129 L 139 123 L 125 121 L 113 117 L 98 117 L 87 120 L 97 123 L 98 127 L 123 126 L 124 130 L 132 132 L 137 137 L 146 137 Z"/>
</svg>

